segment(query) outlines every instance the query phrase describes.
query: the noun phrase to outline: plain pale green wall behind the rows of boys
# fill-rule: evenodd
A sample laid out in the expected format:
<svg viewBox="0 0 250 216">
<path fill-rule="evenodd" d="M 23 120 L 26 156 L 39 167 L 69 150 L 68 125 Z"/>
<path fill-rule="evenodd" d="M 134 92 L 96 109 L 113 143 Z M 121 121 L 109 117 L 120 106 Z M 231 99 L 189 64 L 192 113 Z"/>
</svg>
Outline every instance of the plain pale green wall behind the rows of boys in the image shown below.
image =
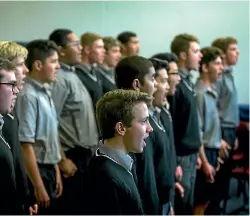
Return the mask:
<svg viewBox="0 0 250 216">
<path fill-rule="evenodd" d="M 219 36 L 239 40 L 235 67 L 239 102 L 249 103 L 249 3 L 172 2 L 0 2 L 0 40 L 47 38 L 55 28 L 70 28 L 80 36 L 92 31 L 116 36 L 123 30 L 140 36 L 141 55 L 169 51 L 178 33 L 197 35 L 201 46 Z"/>
</svg>

